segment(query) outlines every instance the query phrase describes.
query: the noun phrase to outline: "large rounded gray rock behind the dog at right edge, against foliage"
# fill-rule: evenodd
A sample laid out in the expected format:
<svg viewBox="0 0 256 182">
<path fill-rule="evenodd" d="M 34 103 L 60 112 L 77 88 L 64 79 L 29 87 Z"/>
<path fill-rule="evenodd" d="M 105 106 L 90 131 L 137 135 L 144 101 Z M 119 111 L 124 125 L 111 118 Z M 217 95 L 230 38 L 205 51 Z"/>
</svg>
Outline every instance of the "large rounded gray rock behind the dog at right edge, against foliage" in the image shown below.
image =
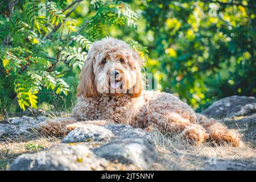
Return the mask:
<svg viewBox="0 0 256 182">
<path fill-rule="evenodd" d="M 231 96 L 213 102 L 203 114 L 216 119 L 248 115 L 256 111 L 256 98 Z"/>
</svg>

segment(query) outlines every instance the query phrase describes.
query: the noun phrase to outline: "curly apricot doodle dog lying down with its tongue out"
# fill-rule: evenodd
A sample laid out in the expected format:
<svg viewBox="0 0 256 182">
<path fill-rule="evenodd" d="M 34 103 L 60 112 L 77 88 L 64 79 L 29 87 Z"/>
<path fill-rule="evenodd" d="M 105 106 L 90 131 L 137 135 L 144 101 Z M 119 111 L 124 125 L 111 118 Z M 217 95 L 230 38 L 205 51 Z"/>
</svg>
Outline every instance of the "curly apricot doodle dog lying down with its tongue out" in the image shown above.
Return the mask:
<svg viewBox="0 0 256 182">
<path fill-rule="evenodd" d="M 143 61 L 128 44 L 114 38 L 94 42 L 80 75 L 71 117 L 48 119 L 39 131 L 65 135 L 84 124 L 129 124 L 146 131 L 179 134 L 189 143 L 242 144 L 241 134 L 197 114 L 170 93 L 143 89 Z"/>
</svg>

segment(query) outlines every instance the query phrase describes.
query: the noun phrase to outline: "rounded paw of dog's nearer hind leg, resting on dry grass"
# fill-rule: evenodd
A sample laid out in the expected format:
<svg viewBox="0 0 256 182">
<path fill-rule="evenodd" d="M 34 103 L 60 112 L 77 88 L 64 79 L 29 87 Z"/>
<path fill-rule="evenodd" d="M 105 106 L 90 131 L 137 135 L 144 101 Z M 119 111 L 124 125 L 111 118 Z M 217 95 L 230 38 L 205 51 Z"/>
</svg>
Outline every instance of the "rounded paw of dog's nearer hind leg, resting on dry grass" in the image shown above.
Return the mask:
<svg viewBox="0 0 256 182">
<path fill-rule="evenodd" d="M 180 137 L 186 139 L 188 143 L 197 146 L 204 142 L 204 140 L 207 140 L 209 134 L 205 133 L 205 130 L 200 125 L 191 125 L 180 134 Z"/>
</svg>

